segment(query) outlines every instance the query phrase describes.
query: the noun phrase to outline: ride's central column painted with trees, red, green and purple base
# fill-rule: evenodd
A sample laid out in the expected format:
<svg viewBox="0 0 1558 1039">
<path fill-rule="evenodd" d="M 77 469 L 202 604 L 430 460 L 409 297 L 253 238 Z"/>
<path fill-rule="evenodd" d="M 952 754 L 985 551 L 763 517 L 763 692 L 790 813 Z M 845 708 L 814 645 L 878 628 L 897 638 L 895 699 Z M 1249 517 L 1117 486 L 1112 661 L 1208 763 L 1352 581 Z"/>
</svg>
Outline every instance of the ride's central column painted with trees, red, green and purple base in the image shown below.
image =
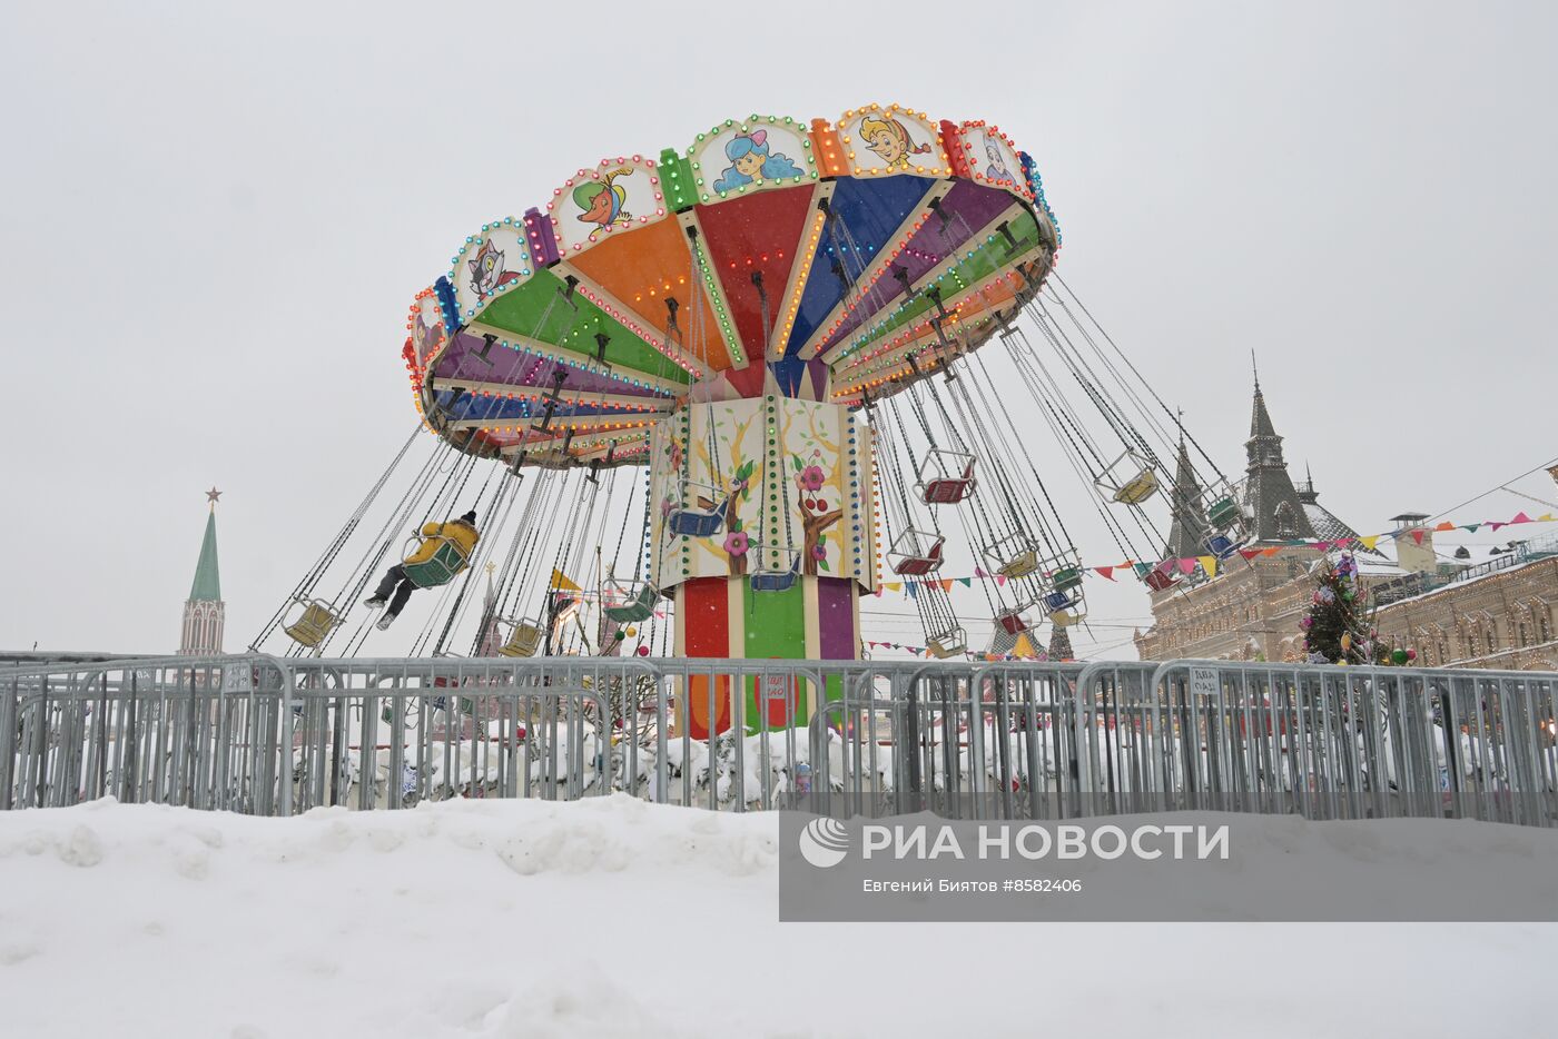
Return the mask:
<svg viewBox="0 0 1558 1039">
<path fill-rule="evenodd" d="M 659 503 L 654 581 L 676 600 L 689 657 L 854 660 L 860 593 L 877 586 L 869 430 L 848 408 L 770 391 L 689 403 L 651 449 Z M 687 724 L 723 731 L 746 701 L 748 731 L 805 724 L 816 693 L 695 679 Z M 710 715 L 710 692 L 712 709 Z M 838 695 L 838 690 L 824 690 Z"/>
</svg>

